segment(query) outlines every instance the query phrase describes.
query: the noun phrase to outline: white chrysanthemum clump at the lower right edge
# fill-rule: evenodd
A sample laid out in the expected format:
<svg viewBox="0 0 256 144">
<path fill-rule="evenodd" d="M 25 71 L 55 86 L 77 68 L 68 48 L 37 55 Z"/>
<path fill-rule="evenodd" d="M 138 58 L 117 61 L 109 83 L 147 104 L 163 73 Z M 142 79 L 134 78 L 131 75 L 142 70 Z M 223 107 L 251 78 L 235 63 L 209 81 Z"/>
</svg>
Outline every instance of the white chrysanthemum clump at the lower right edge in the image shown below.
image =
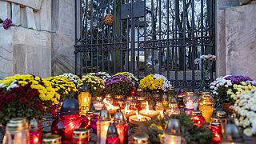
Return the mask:
<svg viewBox="0 0 256 144">
<path fill-rule="evenodd" d="M 234 122 L 243 129 L 243 134 L 256 134 L 256 90 L 239 94 L 232 108 Z"/>
</svg>

